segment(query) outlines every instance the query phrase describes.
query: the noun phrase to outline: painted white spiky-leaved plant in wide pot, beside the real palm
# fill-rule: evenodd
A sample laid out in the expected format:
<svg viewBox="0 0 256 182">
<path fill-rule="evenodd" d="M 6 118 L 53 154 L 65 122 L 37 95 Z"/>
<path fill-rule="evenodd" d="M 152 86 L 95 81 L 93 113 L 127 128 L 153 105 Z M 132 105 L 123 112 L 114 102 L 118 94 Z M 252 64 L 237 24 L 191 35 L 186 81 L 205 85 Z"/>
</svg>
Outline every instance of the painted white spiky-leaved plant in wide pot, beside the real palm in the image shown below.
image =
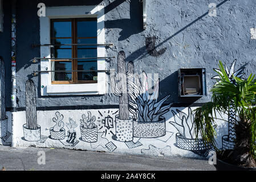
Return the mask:
<svg viewBox="0 0 256 182">
<path fill-rule="evenodd" d="M 194 114 L 192 114 L 192 109 L 190 107 L 188 108 L 188 114 L 178 109 L 176 111 L 177 113 L 172 110 L 174 122 L 170 122 L 170 124 L 178 130 L 178 133 L 176 134 L 176 143 L 174 145 L 200 156 L 208 156 L 212 146 L 210 143 L 205 143 L 200 137 L 196 139 L 194 133 Z"/>
</svg>

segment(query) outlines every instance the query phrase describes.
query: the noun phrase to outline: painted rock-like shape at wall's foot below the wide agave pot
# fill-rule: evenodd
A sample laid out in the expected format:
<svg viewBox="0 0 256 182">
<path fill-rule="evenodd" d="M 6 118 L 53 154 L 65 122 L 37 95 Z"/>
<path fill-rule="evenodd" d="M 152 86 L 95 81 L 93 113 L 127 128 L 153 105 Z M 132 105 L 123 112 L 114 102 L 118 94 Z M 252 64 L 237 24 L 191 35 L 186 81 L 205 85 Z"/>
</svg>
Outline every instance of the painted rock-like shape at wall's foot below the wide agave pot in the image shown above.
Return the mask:
<svg viewBox="0 0 256 182">
<path fill-rule="evenodd" d="M 170 156 L 171 147 L 166 146 L 164 148 L 157 148 L 155 146 L 149 145 L 148 149 L 141 149 L 141 154 L 156 155 L 156 156 Z"/>
</svg>

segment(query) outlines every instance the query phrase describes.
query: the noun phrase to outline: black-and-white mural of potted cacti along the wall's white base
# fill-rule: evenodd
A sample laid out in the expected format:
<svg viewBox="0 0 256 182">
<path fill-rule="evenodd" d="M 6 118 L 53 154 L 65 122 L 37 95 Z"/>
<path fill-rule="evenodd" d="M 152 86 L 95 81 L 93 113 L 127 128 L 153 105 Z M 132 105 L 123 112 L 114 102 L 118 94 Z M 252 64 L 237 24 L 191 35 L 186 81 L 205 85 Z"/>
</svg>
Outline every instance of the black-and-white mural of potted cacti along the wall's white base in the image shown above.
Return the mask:
<svg viewBox="0 0 256 182">
<path fill-rule="evenodd" d="M 157 156 L 182 154 L 207 157 L 212 146 L 200 136 L 196 139 L 195 108 L 166 104 L 170 94 L 159 99 L 160 80 L 153 81 L 144 71 L 140 75 L 135 73 L 134 64 L 125 62 L 123 51 L 119 52 L 117 62 L 118 70 L 111 77 L 111 86 L 113 93 L 119 97 L 119 109 L 40 111 L 38 116 L 34 82 L 28 80 L 27 123 L 23 127 L 22 143 L 25 146 L 26 142 L 30 142 L 44 147 Z M 243 68 L 234 71 L 235 61 L 230 69 L 225 67 L 230 79 L 232 74 L 243 75 Z M 218 80 L 218 77 L 213 79 Z M 235 114 L 232 115 L 231 111 L 228 117 L 234 119 Z M 38 125 L 37 121 L 45 120 L 40 122 L 41 126 Z M 233 126 L 229 126 L 229 135 L 222 138 L 223 146 L 228 142 L 226 146 L 230 147 L 234 141 L 233 129 Z M 49 133 L 50 136 L 46 137 Z"/>
</svg>

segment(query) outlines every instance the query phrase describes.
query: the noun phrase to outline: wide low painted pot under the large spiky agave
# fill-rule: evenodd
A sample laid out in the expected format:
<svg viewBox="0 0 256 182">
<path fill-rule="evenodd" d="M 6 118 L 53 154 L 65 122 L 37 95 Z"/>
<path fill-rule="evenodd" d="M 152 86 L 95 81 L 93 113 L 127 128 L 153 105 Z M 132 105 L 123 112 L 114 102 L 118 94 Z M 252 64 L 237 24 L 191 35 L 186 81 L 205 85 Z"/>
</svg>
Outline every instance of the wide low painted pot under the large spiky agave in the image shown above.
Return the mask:
<svg viewBox="0 0 256 182">
<path fill-rule="evenodd" d="M 157 122 L 133 121 L 133 137 L 159 138 L 166 135 L 165 118 L 159 117 Z"/>
</svg>

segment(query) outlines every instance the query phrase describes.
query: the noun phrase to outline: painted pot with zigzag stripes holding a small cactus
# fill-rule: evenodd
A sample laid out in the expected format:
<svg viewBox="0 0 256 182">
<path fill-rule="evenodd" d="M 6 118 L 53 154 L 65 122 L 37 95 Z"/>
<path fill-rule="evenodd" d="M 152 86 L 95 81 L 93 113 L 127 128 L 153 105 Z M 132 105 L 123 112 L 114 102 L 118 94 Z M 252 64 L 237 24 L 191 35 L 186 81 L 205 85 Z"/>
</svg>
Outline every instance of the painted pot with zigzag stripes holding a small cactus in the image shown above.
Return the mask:
<svg viewBox="0 0 256 182">
<path fill-rule="evenodd" d="M 95 143 L 97 142 L 97 126 L 92 129 L 86 129 L 80 126 L 81 137 L 84 142 Z"/>
</svg>

